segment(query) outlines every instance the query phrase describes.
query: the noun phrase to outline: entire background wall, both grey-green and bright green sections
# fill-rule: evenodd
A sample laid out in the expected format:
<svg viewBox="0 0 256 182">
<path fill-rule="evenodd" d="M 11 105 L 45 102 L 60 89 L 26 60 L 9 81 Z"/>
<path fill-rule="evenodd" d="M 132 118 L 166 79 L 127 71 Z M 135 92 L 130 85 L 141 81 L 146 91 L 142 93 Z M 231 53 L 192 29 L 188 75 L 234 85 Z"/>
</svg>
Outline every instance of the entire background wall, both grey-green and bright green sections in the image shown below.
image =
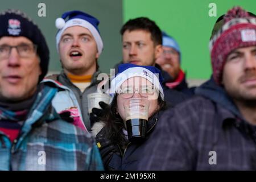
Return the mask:
<svg viewBox="0 0 256 182">
<path fill-rule="evenodd" d="M 38 16 L 39 3 L 46 4 L 46 17 Z M 217 16 L 210 17 L 209 3 L 217 6 Z M 209 78 L 212 73 L 209 59 L 209 37 L 218 16 L 234 5 L 256 13 L 255 0 L 8 0 L 0 2 L 0 10 L 20 9 L 42 29 L 51 50 L 50 71 L 60 71 L 55 46 L 55 19 L 64 11 L 82 10 L 100 20 L 104 51 L 99 64 L 103 72 L 122 59 L 119 30 L 130 18 L 147 16 L 160 28 L 174 36 L 182 53 L 181 66 L 188 78 Z"/>
</svg>

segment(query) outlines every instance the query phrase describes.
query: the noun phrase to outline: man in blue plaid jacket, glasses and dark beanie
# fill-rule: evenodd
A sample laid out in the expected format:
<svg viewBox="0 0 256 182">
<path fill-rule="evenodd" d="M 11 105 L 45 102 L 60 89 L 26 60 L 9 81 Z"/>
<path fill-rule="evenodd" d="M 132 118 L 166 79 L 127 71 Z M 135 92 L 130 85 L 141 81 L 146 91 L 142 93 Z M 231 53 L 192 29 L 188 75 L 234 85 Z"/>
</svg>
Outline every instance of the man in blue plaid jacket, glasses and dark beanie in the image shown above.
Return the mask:
<svg viewBox="0 0 256 182">
<path fill-rule="evenodd" d="M 60 119 L 57 89 L 39 84 L 49 50 L 38 26 L 19 10 L 0 22 L 0 170 L 102 170 L 94 139 Z"/>
</svg>

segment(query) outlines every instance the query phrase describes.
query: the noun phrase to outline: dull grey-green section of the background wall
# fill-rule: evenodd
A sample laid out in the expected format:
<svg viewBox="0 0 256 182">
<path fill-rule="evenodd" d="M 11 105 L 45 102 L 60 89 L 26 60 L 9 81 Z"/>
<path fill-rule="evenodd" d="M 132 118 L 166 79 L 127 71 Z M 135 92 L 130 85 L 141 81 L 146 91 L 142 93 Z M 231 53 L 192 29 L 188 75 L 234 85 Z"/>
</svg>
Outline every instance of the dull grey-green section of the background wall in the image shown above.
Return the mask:
<svg viewBox="0 0 256 182">
<path fill-rule="evenodd" d="M 46 4 L 46 17 L 38 16 L 39 3 Z M 110 68 L 122 58 L 121 36 L 122 0 L 7 0 L 0 2 L 0 10 L 19 9 L 28 14 L 43 31 L 51 51 L 49 71 L 60 71 L 60 61 L 55 46 L 55 19 L 65 11 L 81 10 L 100 20 L 100 32 L 104 50 L 98 60 L 101 71 L 110 73 Z M 1 23 L 1 22 L 0 22 Z"/>
</svg>

